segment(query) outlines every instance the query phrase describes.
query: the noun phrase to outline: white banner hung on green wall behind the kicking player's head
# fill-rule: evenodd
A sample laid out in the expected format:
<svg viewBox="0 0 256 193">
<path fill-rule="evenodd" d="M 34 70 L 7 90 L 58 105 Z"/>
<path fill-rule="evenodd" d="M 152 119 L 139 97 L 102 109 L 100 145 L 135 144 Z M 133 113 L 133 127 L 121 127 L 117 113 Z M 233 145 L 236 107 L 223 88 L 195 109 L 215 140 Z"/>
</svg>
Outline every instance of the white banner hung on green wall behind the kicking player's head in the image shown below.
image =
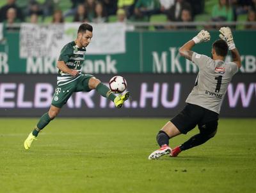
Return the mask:
<svg viewBox="0 0 256 193">
<path fill-rule="evenodd" d="M 81 24 L 36 25 L 22 23 L 19 39 L 20 58 L 57 58 L 60 55 L 61 48 L 77 38 L 79 25 Z M 92 26 L 93 38 L 87 54 L 125 53 L 125 24 L 92 24 Z"/>
</svg>

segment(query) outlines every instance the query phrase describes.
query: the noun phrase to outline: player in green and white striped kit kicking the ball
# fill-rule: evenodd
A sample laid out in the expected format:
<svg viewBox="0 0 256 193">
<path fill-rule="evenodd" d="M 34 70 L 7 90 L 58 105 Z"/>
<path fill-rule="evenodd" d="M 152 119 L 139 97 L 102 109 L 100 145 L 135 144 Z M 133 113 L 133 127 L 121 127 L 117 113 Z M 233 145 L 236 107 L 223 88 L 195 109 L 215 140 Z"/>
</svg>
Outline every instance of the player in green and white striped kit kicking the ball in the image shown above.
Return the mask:
<svg viewBox="0 0 256 193">
<path fill-rule="evenodd" d="M 122 96 L 115 96 L 99 79 L 95 78 L 93 75 L 83 75 L 81 73 L 86 46 L 88 46 L 92 40 L 92 31 L 92 25 L 81 24 L 77 31 L 76 40 L 67 43 L 67 45 L 62 48 L 57 62 L 59 71 L 51 108 L 47 113 L 42 115 L 35 129 L 24 141 L 24 148 L 26 150 L 31 147 L 31 144 L 38 136 L 38 132 L 44 129 L 44 127 L 60 113 L 62 106 L 67 103 L 73 92 L 90 92 L 90 90 L 96 89 L 101 96 L 107 97 L 113 101 L 117 108 L 121 108 L 124 101 L 128 99 L 129 92 L 125 92 Z"/>
</svg>

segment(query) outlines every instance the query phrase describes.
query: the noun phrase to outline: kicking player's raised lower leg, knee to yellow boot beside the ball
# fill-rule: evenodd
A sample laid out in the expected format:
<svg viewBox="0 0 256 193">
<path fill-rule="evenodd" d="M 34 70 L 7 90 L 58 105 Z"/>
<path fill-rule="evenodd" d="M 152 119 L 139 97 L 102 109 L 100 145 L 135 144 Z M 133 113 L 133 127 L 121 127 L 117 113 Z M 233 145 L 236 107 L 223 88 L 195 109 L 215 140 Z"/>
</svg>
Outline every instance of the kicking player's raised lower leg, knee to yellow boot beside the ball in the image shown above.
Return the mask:
<svg viewBox="0 0 256 193">
<path fill-rule="evenodd" d="M 115 96 L 109 87 L 104 85 L 104 83 L 100 82 L 100 80 L 95 77 L 90 78 L 88 85 L 90 89 L 96 89 L 101 96 L 107 97 L 109 100 L 113 101 L 117 108 L 121 108 L 124 104 L 124 101 L 126 101 L 130 96 L 129 92 L 125 92 L 120 96 Z"/>
</svg>

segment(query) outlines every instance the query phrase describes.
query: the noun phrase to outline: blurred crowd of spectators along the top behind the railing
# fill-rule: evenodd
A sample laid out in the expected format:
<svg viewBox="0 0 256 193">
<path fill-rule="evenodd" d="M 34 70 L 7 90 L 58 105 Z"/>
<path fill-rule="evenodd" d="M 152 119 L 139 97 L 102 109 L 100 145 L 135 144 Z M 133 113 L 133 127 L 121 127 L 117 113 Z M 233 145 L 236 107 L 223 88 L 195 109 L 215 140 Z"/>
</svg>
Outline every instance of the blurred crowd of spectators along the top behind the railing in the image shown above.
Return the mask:
<svg viewBox="0 0 256 193">
<path fill-rule="evenodd" d="M 15 0 L 6 0 L 0 9 L 0 22 L 38 23 L 51 17 L 54 24 L 66 22 L 109 22 L 115 16 L 116 22 L 148 22 L 152 15 L 165 15 L 169 22 L 193 22 L 195 16 L 204 13 L 204 0 L 66 0 L 72 6 L 67 10 L 58 8 L 60 0 L 28 0 L 26 8 L 17 6 Z M 256 0 L 218 0 L 212 6 L 211 21 L 236 21 L 241 14 L 247 20 L 256 21 Z M 38 19 L 40 18 L 40 20 Z M 169 29 L 176 27 L 169 26 Z M 182 25 L 179 29 L 194 29 L 195 26 Z M 246 29 L 256 29 L 256 25 L 246 25 Z"/>
</svg>

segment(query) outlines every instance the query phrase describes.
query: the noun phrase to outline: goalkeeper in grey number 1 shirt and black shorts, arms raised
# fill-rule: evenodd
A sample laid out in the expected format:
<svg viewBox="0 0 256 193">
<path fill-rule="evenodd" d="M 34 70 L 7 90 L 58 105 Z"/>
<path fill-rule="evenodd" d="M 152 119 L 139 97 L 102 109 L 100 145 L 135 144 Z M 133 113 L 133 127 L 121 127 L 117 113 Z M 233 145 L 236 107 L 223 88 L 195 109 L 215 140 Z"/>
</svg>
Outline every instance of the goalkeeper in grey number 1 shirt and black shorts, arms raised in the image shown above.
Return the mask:
<svg viewBox="0 0 256 193">
<path fill-rule="evenodd" d="M 166 154 L 176 157 L 184 150 L 202 145 L 216 134 L 221 103 L 228 83 L 241 67 L 241 59 L 229 27 L 221 27 L 221 39 L 212 44 L 212 57 L 191 51 L 195 44 L 209 41 L 210 38 L 209 32 L 202 30 L 179 49 L 180 55 L 198 66 L 199 73 L 195 87 L 186 99 L 185 108 L 159 131 L 156 139 L 160 148 L 152 152 L 148 159 L 158 159 Z M 224 62 L 228 49 L 232 55 L 232 62 Z M 199 129 L 198 134 L 179 147 L 169 147 L 169 139 L 181 133 L 186 134 L 196 125 Z"/>
</svg>

